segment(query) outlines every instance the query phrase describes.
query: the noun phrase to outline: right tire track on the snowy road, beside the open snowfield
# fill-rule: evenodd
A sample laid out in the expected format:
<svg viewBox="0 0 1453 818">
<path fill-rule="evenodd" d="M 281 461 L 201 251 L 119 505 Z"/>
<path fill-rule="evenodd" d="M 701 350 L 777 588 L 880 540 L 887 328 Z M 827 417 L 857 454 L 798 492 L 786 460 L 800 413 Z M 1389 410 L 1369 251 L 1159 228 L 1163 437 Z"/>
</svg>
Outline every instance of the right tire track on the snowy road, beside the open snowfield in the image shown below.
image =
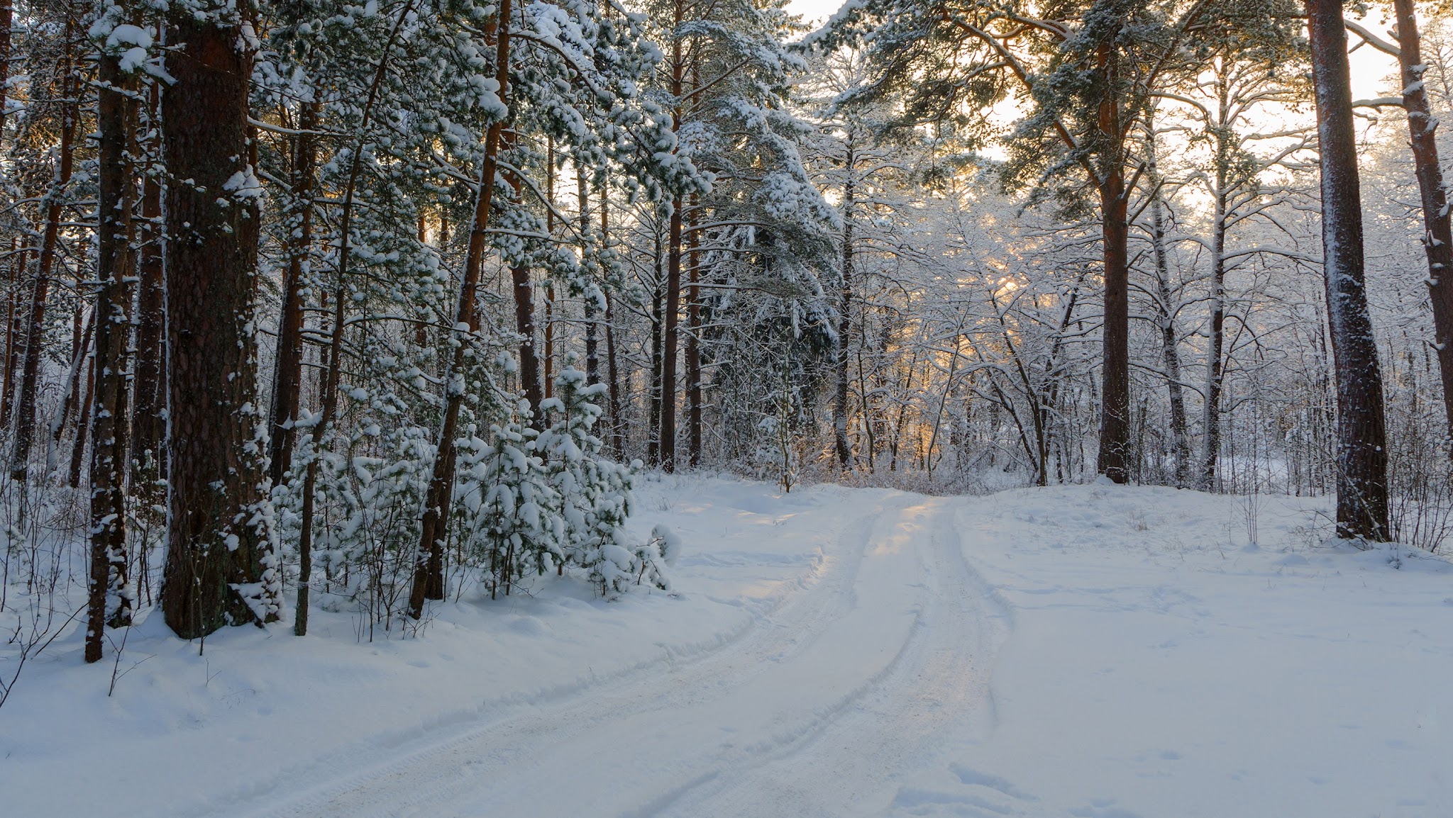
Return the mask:
<svg viewBox="0 0 1453 818">
<path fill-rule="evenodd" d="M 992 729 L 992 658 L 1008 609 L 969 567 L 956 509 L 928 500 L 923 609 L 891 667 L 799 741 L 681 787 L 641 815 L 876 815 L 898 783 L 940 761 L 947 742 Z"/>
</svg>

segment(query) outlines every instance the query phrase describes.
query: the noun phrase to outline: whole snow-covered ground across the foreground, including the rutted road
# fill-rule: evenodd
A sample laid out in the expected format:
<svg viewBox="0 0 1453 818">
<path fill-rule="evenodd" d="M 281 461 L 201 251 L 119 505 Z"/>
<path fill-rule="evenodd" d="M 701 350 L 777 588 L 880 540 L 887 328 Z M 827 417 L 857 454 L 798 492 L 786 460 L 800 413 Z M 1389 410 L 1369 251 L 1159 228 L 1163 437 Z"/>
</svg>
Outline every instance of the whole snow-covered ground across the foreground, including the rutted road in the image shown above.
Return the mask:
<svg viewBox="0 0 1453 818">
<path fill-rule="evenodd" d="M 1453 815 L 1453 567 L 1325 548 L 1322 501 L 1248 546 L 1245 501 L 1159 488 L 639 500 L 677 596 L 202 655 L 150 620 L 110 697 L 64 636 L 0 709 L 0 814 Z"/>
</svg>

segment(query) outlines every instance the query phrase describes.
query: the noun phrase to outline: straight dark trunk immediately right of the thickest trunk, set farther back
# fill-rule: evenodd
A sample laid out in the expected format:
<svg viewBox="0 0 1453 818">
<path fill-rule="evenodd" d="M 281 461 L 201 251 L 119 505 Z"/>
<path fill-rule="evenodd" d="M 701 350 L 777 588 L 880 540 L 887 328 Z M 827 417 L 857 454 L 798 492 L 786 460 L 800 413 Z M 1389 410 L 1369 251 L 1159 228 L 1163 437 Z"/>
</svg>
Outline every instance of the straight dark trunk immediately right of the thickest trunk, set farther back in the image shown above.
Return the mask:
<svg viewBox="0 0 1453 818">
<path fill-rule="evenodd" d="M 267 477 L 280 485 L 292 468 L 292 449 L 302 397 L 302 291 L 307 286 L 308 254 L 312 247 L 312 186 L 318 148 L 312 131 L 318 128 L 318 102 L 302 103 L 298 131 L 292 138 L 292 202 L 288 214 L 288 272 L 282 282 L 282 312 L 278 317 L 278 352 L 273 359 L 273 394 L 267 420 Z"/>
</svg>

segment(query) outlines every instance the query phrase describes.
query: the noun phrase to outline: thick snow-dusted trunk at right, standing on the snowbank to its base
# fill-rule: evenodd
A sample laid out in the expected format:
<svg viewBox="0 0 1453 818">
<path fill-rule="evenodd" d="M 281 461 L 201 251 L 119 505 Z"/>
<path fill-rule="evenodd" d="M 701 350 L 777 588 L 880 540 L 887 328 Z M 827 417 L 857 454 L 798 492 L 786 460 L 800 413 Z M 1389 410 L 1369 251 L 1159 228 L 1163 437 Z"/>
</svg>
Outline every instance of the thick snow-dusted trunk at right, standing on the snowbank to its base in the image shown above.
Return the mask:
<svg viewBox="0 0 1453 818">
<path fill-rule="evenodd" d="M 1386 540 L 1388 449 L 1363 280 L 1361 189 L 1341 0 L 1306 0 L 1322 166 L 1322 270 L 1337 373 L 1337 536 Z"/>
</svg>

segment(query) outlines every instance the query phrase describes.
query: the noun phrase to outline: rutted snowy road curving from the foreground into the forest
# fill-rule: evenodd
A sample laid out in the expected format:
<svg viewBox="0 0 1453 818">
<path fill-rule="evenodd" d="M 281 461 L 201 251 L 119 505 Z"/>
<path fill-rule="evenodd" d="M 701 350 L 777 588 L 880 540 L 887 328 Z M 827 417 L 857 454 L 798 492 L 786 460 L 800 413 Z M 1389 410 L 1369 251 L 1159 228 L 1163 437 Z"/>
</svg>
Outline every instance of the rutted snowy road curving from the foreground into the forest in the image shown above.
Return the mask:
<svg viewBox="0 0 1453 818">
<path fill-rule="evenodd" d="M 882 495 L 843 526 L 815 581 L 719 649 L 334 758 L 228 812 L 882 812 L 946 735 L 981 732 L 992 715 L 988 667 L 1007 613 L 966 565 L 953 510 Z"/>
</svg>

